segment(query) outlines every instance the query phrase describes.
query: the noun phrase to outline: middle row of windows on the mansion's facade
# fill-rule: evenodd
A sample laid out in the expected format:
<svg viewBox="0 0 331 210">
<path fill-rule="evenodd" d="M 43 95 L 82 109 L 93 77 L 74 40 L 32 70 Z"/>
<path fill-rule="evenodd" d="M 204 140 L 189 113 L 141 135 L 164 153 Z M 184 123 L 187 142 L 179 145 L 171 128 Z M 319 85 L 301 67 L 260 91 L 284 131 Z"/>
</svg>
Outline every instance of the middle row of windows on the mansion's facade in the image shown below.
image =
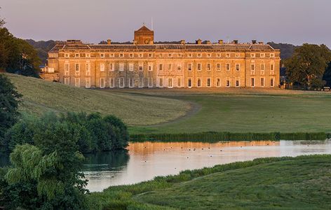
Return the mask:
<svg viewBox="0 0 331 210">
<path fill-rule="evenodd" d="M 236 71 L 240 71 L 241 64 L 235 64 L 234 66 L 235 66 L 234 69 Z M 256 69 L 255 66 L 256 66 L 255 64 L 250 65 L 250 71 L 251 71 L 252 75 L 255 74 L 255 69 Z M 80 64 L 74 64 L 74 67 L 75 67 L 75 71 L 80 71 Z M 119 71 L 124 71 L 124 69 L 125 69 L 124 67 L 125 67 L 125 64 L 120 63 L 119 64 Z M 165 70 L 165 67 L 168 71 L 173 71 L 174 69 L 176 69 L 178 71 L 182 70 L 182 64 L 176 64 L 176 65 L 175 64 L 167 64 L 166 66 L 164 64 L 158 64 L 158 71 Z M 115 71 L 115 64 L 114 63 L 109 63 L 108 64 L 108 69 L 109 69 L 109 71 Z M 138 70 L 143 71 L 143 69 L 144 69 L 144 64 L 140 63 L 139 66 L 138 66 Z M 153 71 L 153 63 L 149 63 L 148 66 L 147 66 L 147 69 L 148 69 L 148 71 Z M 192 71 L 192 69 L 193 69 L 193 64 L 192 63 L 187 64 L 187 70 Z M 206 66 L 206 69 L 207 69 L 207 71 L 211 71 L 212 70 L 212 64 L 208 63 L 207 66 Z M 217 63 L 215 69 L 216 69 L 216 71 L 221 71 L 221 64 Z M 225 64 L 225 69 L 227 71 L 230 71 L 231 70 L 231 64 Z M 260 64 L 259 69 L 261 71 L 261 74 L 263 75 L 264 74 L 264 69 L 265 69 L 265 64 Z M 65 71 L 68 72 L 69 70 L 70 70 L 69 63 L 65 63 Z M 105 70 L 106 70 L 106 64 L 101 63 L 100 64 L 100 71 L 105 71 Z M 128 70 L 129 71 L 134 71 L 134 64 L 133 63 L 128 64 Z M 203 70 L 203 65 L 201 63 L 196 64 L 196 70 L 197 71 L 202 71 Z M 86 72 L 88 72 L 88 71 L 90 71 L 90 63 L 86 63 Z M 271 74 L 274 73 L 274 64 L 270 64 L 270 71 L 271 71 Z"/>
</svg>

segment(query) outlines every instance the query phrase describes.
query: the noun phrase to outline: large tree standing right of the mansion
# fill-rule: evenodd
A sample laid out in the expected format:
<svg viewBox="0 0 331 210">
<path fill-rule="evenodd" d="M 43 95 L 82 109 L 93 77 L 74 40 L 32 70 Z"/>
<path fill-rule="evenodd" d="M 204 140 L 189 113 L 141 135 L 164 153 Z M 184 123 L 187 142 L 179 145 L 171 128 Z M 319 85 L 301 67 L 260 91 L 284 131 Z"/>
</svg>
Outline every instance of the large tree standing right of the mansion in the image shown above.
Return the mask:
<svg viewBox="0 0 331 210">
<path fill-rule="evenodd" d="M 330 61 L 331 52 L 326 45 L 304 43 L 285 61 L 288 80 L 306 89 L 321 87 L 325 84 L 323 74 Z"/>
</svg>

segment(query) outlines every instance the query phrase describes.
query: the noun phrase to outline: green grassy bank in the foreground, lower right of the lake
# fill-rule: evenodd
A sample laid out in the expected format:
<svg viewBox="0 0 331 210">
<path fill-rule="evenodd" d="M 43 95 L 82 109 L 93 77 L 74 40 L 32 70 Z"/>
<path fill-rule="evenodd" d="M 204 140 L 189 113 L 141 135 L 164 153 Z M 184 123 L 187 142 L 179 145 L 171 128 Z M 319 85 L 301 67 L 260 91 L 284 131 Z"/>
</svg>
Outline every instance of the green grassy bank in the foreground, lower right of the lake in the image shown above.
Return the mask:
<svg viewBox="0 0 331 210">
<path fill-rule="evenodd" d="M 331 155 L 259 158 L 88 195 L 90 209 L 330 209 Z"/>
</svg>

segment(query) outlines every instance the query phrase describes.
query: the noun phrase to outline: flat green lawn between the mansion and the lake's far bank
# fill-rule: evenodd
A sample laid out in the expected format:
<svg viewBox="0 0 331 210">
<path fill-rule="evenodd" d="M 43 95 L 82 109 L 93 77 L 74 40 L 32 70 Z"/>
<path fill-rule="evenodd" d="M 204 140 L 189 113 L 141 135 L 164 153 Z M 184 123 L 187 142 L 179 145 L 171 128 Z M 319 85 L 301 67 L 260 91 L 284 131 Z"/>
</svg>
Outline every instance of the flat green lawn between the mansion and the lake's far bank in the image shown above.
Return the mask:
<svg viewBox="0 0 331 210">
<path fill-rule="evenodd" d="M 330 92 L 149 91 L 145 94 L 183 99 L 198 104 L 201 110 L 175 123 L 132 127 L 133 133 L 331 131 Z"/>
</svg>

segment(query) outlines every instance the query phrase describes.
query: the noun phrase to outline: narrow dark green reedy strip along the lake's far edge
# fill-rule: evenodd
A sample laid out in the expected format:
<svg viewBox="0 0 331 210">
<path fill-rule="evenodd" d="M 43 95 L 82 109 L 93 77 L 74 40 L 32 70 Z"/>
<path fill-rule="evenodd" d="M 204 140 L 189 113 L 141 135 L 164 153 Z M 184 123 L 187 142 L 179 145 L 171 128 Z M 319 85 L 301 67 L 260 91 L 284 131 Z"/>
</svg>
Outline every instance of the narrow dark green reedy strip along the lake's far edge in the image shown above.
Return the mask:
<svg viewBox="0 0 331 210">
<path fill-rule="evenodd" d="M 130 141 L 279 141 L 279 140 L 325 140 L 331 138 L 331 134 L 325 132 L 296 132 L 296 133 L 231 133 L 231 132 L 201 132 L 181 134 L 132 134 Z"/>
</svg>

